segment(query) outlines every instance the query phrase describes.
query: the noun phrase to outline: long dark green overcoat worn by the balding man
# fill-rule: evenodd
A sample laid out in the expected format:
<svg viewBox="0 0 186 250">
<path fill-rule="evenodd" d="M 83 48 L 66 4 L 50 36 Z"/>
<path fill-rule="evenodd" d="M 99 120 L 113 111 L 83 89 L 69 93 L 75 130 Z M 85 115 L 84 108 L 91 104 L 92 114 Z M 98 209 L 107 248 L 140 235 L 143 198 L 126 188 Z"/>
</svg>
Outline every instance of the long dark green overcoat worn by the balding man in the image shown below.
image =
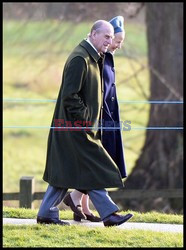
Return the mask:
<svg viewBox="0 0 186 250">
<path fill-rule="evenodd" d="M 43 175 L 52 186 L 80 190 L 123 187 L 118 167 L 100 141 L 100 130 L 55 129 L 84 127 L 84 122 L 94 127 L 101 119 L 103 87 L 99 60 L 98 53 L 83 40 L 64 66 Z"/>
</svg>

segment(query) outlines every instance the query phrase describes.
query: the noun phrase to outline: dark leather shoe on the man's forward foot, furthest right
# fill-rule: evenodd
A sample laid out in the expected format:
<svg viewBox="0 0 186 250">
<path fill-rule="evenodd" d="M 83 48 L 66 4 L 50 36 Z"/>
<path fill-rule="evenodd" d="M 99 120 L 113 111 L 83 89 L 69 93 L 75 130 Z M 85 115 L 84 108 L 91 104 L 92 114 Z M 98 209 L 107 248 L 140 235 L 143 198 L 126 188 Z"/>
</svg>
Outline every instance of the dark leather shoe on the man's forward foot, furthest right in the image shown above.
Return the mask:
<svg viewBox="0 0 186 250">
<path fill-rule="evenodd" d="M 122 223 L 128 221 L 133 214 L 127 214 L 127 215 L 119 215 L 119 214 L 112 214 L 108 217 L 108 219 L 103 220 L 103 224 L 105 227 L 111 227 L 111 226 L 119 226 Z"/>
</svg>

